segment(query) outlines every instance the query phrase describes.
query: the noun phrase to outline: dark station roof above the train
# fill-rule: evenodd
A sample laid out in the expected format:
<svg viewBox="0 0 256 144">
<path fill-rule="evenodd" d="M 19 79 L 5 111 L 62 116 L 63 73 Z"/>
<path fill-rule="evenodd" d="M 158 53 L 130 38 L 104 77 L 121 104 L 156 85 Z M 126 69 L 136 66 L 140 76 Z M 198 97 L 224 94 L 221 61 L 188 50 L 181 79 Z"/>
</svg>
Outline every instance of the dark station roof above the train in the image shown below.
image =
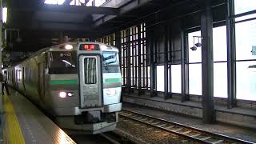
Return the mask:
<svg viewBox="0 0 256 144">
<path fill-rule="evenodd" d="M 50 38 L 58 38 L 60 32 L 70 38 L 100 38 L 114 30 L 143 22 L 145 18 L 158 21 L 161 19 L 158 14 L 162 12 L 168 13 L 166 17 L 175 17 L 175 14 L 197 10 L 202 1 L 119 0 L 118 4 L 111 5 L 110 0 L 97 7 L 70 6 L 71 0 L 65 0 L 62 5 L 45 4 L 44 0 L 8 0 L 5 28 L 20 31 L 22 43 L 14 49 L 22 47 L 35 51 L 50 46 Z"/>
</svg>

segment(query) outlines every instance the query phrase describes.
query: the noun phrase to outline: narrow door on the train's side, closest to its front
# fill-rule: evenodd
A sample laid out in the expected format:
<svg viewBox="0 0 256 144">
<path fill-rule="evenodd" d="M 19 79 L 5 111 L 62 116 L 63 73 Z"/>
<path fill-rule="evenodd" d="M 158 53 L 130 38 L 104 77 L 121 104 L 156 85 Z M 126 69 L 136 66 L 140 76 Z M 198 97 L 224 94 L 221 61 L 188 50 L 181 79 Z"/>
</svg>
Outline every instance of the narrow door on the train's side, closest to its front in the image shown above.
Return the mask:
<svg viewBox="0 0 256 144">
<path fill-rule="evenodd" d="M 45 63 L 38 63 L 38 94 L 43 100 L 45 97 Z"/>
</svg>

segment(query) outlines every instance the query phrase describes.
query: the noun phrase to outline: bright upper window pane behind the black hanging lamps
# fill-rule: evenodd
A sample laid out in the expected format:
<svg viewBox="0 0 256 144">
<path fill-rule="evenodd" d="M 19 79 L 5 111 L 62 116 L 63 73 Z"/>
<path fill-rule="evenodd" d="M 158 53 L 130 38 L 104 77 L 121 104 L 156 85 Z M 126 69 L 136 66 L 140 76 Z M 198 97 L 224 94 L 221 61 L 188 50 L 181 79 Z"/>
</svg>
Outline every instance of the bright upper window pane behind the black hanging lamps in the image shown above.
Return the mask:
<svg viewBox="0 0 256 144">
<path fill-rule="evenodd" d="M 201 36 L 201 31 L 196 31 L 193 33 L 189 33 L 189 55 L 190 55 L 190 62 L 202 62 L 202 49 L 198 47 L 197 50 L 191 50 L 190 48 L 194 46 L 194 44 L 200 42 L 201 38 L 193 38 L 193 36 Z"/>
</svg>

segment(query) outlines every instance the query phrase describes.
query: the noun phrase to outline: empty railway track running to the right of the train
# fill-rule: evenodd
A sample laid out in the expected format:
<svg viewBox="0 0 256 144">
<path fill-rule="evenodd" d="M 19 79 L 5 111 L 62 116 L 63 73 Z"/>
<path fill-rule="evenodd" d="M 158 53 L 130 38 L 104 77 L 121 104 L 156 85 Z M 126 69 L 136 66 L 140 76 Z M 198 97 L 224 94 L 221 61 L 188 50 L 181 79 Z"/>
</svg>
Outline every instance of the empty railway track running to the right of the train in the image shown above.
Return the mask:
<svg viewBox="0 0 256 144">
<path fill-rule="evenodd" d="M 193 140 L 195 142 L 202 143 L 211 143 L 211 144 L 219 144 L 219 143 L 254 143 L 248 142 L 238 138 L 232 138 L 222 134 L 210 133 L 205 130 L 201 130 L 198 128 L 194 128 L 191 126 L 185 126 L 177 122 L 166 121 L 161 118 L 154 118 L 150 115 L 140 114 L 138 112 L 134 112 L 131 110 L 123 109 L 119 113 L 120 118 L 129 118 L 135 122 L 142 122 L 148 126 L 153 126 L 155 128 L 165 130 L 170 132 L 171 134 L 177 134 L 182 138 L 187 138 Z"/>
</svg>

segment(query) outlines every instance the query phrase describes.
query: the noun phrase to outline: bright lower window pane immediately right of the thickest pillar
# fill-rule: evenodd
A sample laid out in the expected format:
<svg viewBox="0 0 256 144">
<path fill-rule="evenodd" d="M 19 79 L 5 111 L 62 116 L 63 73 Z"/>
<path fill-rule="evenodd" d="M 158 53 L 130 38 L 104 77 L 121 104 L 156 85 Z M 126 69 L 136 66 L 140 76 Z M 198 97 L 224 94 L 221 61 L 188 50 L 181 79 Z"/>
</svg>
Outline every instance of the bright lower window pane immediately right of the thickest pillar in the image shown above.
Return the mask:
<svg viewBox="0 0 256 144">
<path fill-rule="evenodd" d="M 227 98 L 227 63 L 214 63 L 214 97 Z"/>
</svg>

